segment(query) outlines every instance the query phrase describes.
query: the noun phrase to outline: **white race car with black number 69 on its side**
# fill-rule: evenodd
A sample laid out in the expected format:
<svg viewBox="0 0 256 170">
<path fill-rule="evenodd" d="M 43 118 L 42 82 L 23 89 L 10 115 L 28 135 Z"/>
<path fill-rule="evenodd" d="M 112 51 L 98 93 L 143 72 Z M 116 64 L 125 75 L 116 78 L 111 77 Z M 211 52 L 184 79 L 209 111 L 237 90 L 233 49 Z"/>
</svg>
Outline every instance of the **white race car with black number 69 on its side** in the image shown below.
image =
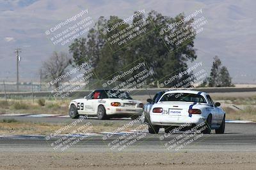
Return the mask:
<svg viewBox="0 0 256 170">
<path fill-rule="evenodd" d="M 138 118 L 143 111 L 143 103 L 133 100 L 127 92 L 120 90 L 94 90 L 84 99 L 75 99 L 69 104 L 69 115 L 97 116 L 99 119 L 110 117 Z"/>
</svg>

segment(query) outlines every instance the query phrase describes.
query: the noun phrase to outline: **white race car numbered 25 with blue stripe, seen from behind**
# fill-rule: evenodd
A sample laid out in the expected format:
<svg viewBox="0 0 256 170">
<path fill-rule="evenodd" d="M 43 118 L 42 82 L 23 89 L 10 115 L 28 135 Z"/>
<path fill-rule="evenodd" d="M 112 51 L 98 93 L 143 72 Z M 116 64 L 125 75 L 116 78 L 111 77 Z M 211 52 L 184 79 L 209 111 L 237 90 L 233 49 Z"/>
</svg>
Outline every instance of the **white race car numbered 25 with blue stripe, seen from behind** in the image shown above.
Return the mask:
<svg viewBox="0 0 256 170">
<path fill-rule="evenodd" d="M 225 131 L 225 111 L 220 103 L 214 103 L 205 92 L 193 90 L 170 90 L 159 92 L 161 97 L 154 101 L 148 99 L 145 104 L 143 118 L 148 125 L 148 131 L 157 134 L 159 128 L 164 127 L 165 132 L 186 124 L 187 129 L 205 122 L 206 128 L 202 131 L 210 134 L 215 129 L 216 134 Z M 183 128 L 186 129 L 186 128 Z"/>
</svg>

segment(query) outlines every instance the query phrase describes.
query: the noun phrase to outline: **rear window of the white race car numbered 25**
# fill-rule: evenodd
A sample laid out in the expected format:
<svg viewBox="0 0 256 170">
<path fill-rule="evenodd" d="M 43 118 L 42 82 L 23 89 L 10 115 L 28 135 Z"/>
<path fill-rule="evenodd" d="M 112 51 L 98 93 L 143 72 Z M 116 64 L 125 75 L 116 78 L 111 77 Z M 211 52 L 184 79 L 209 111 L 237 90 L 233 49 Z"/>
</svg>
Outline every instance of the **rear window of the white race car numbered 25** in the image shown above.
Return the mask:
<svg viewBox="0 0 256 170">
<path fill-rule="evenodd" d="M 199 94 L 188 94 L 188 93 L 165 94 L 160 101 L 182 101 L 182 102 L 206 103 L 203 96 Z"/>
</svg>

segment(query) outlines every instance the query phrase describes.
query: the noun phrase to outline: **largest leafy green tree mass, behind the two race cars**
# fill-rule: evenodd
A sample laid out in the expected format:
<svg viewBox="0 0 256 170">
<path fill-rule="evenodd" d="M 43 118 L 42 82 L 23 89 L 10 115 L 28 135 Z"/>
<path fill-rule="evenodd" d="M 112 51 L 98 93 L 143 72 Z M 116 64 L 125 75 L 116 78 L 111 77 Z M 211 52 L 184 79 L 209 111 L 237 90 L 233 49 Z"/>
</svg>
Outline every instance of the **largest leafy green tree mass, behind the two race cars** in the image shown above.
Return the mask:
<svg viewBox="0 0 256 170">
<path fill-rule="evenodd" d="M 136 12 L 134 12 L 136 13 Z M 143 24 L 146 24 L 146 34 L 141 34 L 129 41 L 125 46 L 118 46 L 117 44 L 109 45 L 107 39 L 114 34 L 122 31 L 123 29 L 131 26 L 138 20 L 143 20 Z M 109 32 L 108 28 L 113 27 L 118 22 L 122 22 L 121 18 L 116 16 L 110 16 L 108 20 L 104 17 L 100 17 L 95 27 L 90 30 L 86 38 L 76 39 L 72 45 L 70 45 L 70 53 L 72 53 L 74 61 L 77 65 L 80 65 L 82 61 L 89 61 L 94 68 L 95 73 L 99 78 L 106 78 L 109 75 L 118 71 L 122 72 L 122 68 L 131 64 L 134 60 L 145 60 L 150 71 L 154 74 L 154 78 L 157 80 L 170 76 L 170 73 L 176 71 L 175 74 L 179 74 L 180 71 L 184 71 L 188 68 L 186 62 L 196 59 L 196 53 L 194 49 L 195 35 L 191 38 L 183 41 L 179 45 L 166 45 L 164 38 L 167 35 L 161 36 L 159 31 L 163 31 L 168 25 L 175 24 L 184 19 L 184 14 L 177 15 L 175 18 L 167 17 L 157 11 L 150 11 L 145 17 L 143 14 L 133 18 L 131 24 L 122 24 L 116 27 L 115 30 Z M 182 22 L 182 24 L 173 28 L 170 32 L 175 32 L 184 27 L 190 27 L 189 24 L 193 22 L 193 19 Z M 143 29 L 137 27 L 138 30 Z M 102 32 L 106 34 L 102 34 Z M 191 73 L 188 73 L 180 80 L 188 78 Z M 170 86 L 175 85 L 180 80 L 173 81 Z M 152 78 L 152 81 L 154 79 Z"/>
</svg>

